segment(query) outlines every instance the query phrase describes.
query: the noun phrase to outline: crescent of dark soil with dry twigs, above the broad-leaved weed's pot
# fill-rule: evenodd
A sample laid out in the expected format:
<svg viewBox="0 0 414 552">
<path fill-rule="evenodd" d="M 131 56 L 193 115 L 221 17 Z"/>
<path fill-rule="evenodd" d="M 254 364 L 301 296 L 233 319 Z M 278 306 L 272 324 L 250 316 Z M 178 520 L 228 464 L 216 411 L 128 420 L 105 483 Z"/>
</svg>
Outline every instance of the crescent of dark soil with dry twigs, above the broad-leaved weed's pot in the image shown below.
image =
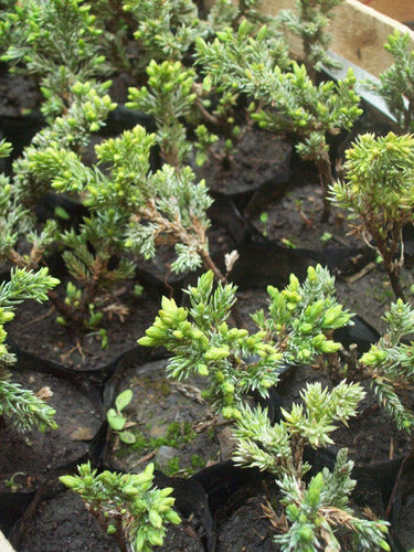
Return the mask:
<svg viewBox="0 0 414 552">
<path fill-rule="evenodd" d="M 60 289 L 63 288 L 61 285 Z M 108 347 L 105 349 L 102 348 L 98 329 L 75 336 L 57 323 L 59 314 L 51 301 L 42 305 L 25 301 L 18 307 L 8 332 L 24 352 L 75 370 L 98 370 L 137 346 L 137 340 L 152 323 L 160 308 L 159 302 L 146 290 L 135 298 L 132 284 L 125 286 L 123 295 L 109 298 L 99 323 L 99 328 L 107 329 Z"/>
</svg>

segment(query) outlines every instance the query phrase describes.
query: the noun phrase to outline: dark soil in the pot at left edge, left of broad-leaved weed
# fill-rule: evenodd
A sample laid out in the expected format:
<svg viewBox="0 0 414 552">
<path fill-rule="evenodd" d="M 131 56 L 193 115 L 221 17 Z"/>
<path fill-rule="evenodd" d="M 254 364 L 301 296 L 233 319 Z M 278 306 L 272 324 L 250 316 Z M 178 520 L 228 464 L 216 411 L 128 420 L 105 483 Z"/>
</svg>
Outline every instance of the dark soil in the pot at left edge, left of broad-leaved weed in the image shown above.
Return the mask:
<svg viewBox="0 0 414 552">
<path fill-rule="evenodd" d="M 103 423 L 99 404 L 67 380 L 33 371 L 11 371 L 11 381 L 38 393 L 49 388 L 47 403 L 56 410 L 57 429 L 21 434 L 2 423 L 0 427 L 0 489 L 30 492 L 56 467 L 82 458 Z"/>
</svg>

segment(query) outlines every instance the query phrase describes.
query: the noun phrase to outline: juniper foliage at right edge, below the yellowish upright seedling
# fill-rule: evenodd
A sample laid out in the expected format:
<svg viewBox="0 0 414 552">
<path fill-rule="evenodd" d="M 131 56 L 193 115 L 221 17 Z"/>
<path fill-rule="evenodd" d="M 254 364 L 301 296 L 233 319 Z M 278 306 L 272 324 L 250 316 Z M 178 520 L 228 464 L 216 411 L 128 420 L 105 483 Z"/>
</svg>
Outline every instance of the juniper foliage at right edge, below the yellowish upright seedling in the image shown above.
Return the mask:
<svg viewBox="0 0 414 552">
<path fill-rule="evenodd" d="M 414 309 L 399 299 L 392 302 L 383 319 L 388 322 L 386 333 L 365 352 L 360 362 L 364 372 L 372 378 L 372 388 L 380 404 L 391 414 L 400 429 L 412 433 L 414 415 L 404 404 L 403 391 L 414 384 L 414 343 L 402 339 L 412 333 Z"/>
</svg>

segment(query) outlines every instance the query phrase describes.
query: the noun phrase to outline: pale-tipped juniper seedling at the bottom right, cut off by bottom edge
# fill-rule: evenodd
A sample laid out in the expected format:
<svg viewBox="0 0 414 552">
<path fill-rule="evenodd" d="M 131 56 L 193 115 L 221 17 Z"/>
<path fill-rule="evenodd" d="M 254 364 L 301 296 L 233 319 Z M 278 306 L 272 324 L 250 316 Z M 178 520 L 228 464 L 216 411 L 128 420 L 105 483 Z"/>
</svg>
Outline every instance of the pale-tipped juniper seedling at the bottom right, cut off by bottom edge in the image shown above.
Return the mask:
<svg viewBox="0 0 414 552">
<path fill-rule="evenodd" d="M 310 469 L 304 461 L 305 447 L 333 443 L 330 433 L 337 428 L 336 423 L 347 423 L 354 416 L 363 396 L 358 383 L 342 381 L 331 391 L 322 390 L 320 383 L 308 383 L 300 393 L 301 404 L 294 404 L 290 412 L 282 408 L 284 418 L 275 425 L 270 424 L 266 410 L 241 405 L 241 416 L 234 428 L 237 447 L 233 460 L 241 466 L 267 470 L 276 477 L 287 521 L 287 527 L 279 523 L 278 532 L 283 534 L 274 535 L 280 550 L 339 552 L 342 550 L 336 535 L 339 528 L 353 533 L 355 548 L 352 550 L 369 551 L 373 546 L 390 550 L 385 541 L 388 523 L 359 518 L 348 506 L 355 481 L 351 479 L 353 463 L 347 460 L 346 449 L 338 453 L 331 473 L 323 468 L 308 484 L 304 481 Z M 272 508 L 267 509 L 267 514 L 277 527 Z"/>
</svg>

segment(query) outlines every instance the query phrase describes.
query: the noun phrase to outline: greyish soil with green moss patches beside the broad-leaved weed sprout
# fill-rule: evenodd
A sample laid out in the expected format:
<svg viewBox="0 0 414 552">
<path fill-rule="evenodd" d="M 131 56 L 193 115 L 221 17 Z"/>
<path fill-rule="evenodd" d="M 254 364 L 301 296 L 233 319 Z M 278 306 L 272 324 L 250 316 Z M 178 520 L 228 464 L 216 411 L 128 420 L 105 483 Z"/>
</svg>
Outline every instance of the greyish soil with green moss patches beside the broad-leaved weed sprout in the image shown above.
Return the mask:
<svg viewBox="0 0 414 552">
<path fill-rule="evenodd" d="M 132 400 L 123 411 L 132 445 L 109 436 L 105 464 L 115 470 L 140 473 L 149 461 L 167 475 L 189 476 L 226 459 L 233 448 L 230 428 L 219 421 L 201 399 L 201 376 L 179 382 L 167 378 L 167 361 L 131 365 L 123 374 L 116 394 L 132 390 Z"/>
</svg>

